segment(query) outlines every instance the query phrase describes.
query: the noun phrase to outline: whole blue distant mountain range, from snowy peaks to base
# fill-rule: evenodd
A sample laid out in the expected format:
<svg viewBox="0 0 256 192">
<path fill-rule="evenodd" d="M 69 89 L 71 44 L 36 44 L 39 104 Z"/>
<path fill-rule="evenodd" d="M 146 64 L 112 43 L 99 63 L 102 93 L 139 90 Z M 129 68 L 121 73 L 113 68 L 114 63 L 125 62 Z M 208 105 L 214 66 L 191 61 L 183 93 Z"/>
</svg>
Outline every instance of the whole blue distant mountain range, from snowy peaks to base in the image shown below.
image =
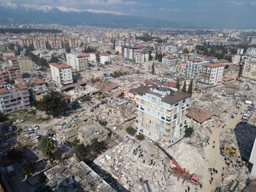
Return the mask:
<svg viewBox="0 0 256 192">
<path fill-rule="evenodd" d="M 63 6 L 38 6 L 27 3 L 2 3 L 0 4 L 0 23 L 10 22 L 58 23 L 70 26 L 82 24 L 109 28 L 180 26 L 171 21 L 139 17 L 115 11 L 78 10 Z"/>
</svg>

